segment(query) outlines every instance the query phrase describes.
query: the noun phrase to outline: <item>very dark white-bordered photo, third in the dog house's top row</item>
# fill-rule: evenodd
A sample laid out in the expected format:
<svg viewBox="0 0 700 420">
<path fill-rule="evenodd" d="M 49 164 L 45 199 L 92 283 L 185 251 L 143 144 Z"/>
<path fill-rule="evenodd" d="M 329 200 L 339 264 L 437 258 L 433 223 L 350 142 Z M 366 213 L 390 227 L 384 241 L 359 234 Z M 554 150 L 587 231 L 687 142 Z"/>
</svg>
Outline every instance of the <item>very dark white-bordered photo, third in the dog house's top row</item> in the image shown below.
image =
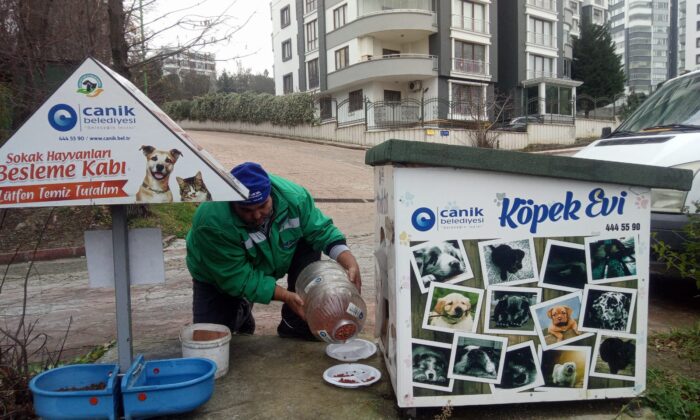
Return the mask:
<svg viewBox="0 0 700 420">
<path fill-rule="evenodd" d="M 575 292 L 586 286 L 586 251 L 580 244 L 547 240 L 540 287 Z"/>
</svg>

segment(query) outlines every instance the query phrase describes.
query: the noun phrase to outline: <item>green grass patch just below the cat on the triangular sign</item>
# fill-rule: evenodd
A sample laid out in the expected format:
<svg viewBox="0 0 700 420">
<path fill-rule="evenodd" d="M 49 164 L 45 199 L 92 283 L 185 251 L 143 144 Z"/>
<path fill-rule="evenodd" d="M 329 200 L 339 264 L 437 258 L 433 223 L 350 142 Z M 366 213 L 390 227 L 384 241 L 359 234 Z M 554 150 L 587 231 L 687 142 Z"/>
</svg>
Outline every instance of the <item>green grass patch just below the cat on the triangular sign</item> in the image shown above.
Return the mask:
<svg viewBox="0 0 700 420">
<path fill-rule="evenodd" d="M 151 204 L 146 215 L 129 220 L 130 228 L 159 227 L 163 236 L 184 239 L 192 227 L 197 203 Z"/>
</svg>

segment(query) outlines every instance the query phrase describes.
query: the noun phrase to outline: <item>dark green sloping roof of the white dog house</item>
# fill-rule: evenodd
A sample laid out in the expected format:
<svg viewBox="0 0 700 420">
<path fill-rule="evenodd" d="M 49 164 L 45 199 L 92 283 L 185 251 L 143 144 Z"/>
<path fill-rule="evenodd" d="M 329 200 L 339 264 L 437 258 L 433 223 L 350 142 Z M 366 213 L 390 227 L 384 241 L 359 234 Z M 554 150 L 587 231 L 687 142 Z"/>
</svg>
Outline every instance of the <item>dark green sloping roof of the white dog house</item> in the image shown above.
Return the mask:
<svg viewBox="0 0 700 420">
<path fill-rule="evenodd" d="M 682 191 L 690 190 L 693 183 L 693 172 L 688 169 L 397 139 L 369 149 L 365 164 L 476 169 Z"/>
</svg>

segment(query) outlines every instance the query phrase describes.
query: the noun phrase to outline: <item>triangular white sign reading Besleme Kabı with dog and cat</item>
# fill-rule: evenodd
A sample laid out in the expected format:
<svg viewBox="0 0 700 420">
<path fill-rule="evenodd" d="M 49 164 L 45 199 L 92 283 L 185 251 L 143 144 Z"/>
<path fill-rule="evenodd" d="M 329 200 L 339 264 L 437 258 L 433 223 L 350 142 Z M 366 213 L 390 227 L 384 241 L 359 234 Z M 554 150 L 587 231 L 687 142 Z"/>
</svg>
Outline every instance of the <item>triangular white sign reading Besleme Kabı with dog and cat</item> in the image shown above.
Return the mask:
<svg viewBox="0 0 700 420">
<path fill-rule="evenodd" d="M 0 207 L 240 201 L 248 190 L 93 58 L 0 148 Z"/>
</svg>

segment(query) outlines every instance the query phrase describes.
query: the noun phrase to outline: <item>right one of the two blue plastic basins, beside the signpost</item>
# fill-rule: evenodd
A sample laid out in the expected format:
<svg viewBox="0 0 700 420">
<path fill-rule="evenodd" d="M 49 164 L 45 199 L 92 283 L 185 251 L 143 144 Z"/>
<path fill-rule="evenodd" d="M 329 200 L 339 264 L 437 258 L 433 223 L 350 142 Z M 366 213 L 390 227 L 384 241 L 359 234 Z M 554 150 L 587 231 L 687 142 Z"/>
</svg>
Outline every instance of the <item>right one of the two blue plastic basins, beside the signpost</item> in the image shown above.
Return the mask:
<svg viewBox="0 0 700 420">
<path fill-rule="evenodd" d="M 139 355 L 122 378 L 126 419 L 194 410 L 214 392 L 216 363 L 183 358 L 145 362 Z"/>
</svg>

